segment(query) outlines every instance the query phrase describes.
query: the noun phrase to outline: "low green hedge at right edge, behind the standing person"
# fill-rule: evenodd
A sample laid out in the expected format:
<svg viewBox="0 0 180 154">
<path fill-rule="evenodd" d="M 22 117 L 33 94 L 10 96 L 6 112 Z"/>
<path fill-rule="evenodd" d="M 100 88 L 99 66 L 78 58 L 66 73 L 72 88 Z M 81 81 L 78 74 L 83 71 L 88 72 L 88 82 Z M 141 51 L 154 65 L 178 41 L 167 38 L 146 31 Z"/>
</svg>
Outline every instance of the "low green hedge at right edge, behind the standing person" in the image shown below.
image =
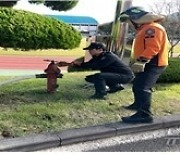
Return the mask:
<svg viewBox="0 0 180 154">
<path fill-rule="evenodd" d="M 164 83 L 178 83 L 180 82 L 180 59 L 169 59 L 169 66 L 165 72 L 160 76 L 158 82 Z"/>
</svg>

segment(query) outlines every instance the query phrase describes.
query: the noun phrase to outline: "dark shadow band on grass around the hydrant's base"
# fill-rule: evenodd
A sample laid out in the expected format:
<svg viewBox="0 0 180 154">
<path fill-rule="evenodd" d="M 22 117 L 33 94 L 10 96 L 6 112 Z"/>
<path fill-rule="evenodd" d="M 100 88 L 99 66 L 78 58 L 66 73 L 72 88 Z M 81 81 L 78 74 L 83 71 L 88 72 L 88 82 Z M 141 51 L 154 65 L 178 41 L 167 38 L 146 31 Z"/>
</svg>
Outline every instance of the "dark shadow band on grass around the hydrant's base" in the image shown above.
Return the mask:
<svg viewBox="0 0 180 154">
<path fill-rule="evenodd" d="M 14 87 L 15 88 L 15 87 Z M 47 93 L 46 87 L 29 89 L 13 89 L 0 92 L 0 104 L 33 104 L 33 103 L 83 103 L 93 94 L 93 87 L 84 88 L 84 84 L 75 87 L 60 87 L 52 94 Z"/>
</svg>

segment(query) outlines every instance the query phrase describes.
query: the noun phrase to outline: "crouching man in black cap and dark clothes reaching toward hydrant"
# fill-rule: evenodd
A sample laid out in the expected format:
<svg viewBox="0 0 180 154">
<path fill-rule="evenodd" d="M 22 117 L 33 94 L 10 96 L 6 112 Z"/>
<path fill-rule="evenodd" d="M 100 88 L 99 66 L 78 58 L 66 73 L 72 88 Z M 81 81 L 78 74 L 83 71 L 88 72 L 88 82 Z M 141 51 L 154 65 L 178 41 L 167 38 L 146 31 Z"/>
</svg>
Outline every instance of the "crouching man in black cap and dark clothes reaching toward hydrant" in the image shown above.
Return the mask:
<svg viewBox="0 0 180 154">
<path fill-rule="evenodd" d="M 88 50 L 92 59 L 88 62 L 74 61 L 73 65 L 81 68 L 100 70 L 100 73 L 86 76 L 85 80 L 95 87 L 94 99 L 105 99 L 107 93 L 123 90 L 122 84 L 130 82 L 134 74 L 130 67 L 125 65 L 120 58 L 112 52 L 106 52 L 102 43 L 93 42 L 84 50 Z M 109 90 L 106 90 L 106 85 Z"/>
</svg>

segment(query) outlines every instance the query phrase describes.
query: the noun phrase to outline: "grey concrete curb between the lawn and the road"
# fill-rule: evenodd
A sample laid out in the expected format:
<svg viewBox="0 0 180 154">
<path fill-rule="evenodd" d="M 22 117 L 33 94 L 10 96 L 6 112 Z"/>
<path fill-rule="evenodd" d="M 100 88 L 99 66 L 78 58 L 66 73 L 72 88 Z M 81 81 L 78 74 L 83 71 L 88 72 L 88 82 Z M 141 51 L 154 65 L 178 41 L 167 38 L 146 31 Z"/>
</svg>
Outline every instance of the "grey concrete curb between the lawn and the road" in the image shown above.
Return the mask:
<svg viewBox="0 0 180 154">
<path fill-rule="evenodd" d="M 125 124 L 122 122 L 42 133 L 26 137 L 0 140 L 0 151 L 36 151 L 101 138 L 139 133 L 180 126 L 180 115 L 156 118 L 152 124 Z"/>
</svg>

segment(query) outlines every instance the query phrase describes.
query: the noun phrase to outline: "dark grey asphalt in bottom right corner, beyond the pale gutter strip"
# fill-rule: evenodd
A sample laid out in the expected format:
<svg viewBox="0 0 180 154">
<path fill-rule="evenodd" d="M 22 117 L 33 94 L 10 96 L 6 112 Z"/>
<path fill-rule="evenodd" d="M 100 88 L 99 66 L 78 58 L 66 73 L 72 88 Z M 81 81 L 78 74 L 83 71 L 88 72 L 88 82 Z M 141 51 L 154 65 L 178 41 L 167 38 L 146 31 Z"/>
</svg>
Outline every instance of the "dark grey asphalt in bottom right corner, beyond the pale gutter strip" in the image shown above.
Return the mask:
<svg viewBox="0 0 180 154">
<path fill-rule="evenodd" d="M 170 143 L 168 143 L 170 141 Z M 180 152 L 180 136 L 173 143 L 173 139 L 165 137 L 149 139 L 132 143 L 116 144 L 103 148 L 89 150 L 91 152 Z"/>
</svg>

